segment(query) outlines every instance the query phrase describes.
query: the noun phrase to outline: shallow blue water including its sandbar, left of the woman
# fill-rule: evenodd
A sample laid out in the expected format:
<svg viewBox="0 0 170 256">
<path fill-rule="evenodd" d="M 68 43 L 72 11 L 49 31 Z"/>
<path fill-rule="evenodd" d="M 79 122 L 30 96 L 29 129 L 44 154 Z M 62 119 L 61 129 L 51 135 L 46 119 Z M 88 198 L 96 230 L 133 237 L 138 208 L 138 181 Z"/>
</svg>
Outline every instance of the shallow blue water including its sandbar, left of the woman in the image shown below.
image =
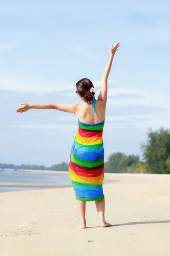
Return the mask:
<svg viewBox="0 0 170 256">
<path fill-rule="evenodd" d="M 23 169 L 0 171 L 0 193 L 69 186 L 72 184 L 68 172 Z"/>
</svg>

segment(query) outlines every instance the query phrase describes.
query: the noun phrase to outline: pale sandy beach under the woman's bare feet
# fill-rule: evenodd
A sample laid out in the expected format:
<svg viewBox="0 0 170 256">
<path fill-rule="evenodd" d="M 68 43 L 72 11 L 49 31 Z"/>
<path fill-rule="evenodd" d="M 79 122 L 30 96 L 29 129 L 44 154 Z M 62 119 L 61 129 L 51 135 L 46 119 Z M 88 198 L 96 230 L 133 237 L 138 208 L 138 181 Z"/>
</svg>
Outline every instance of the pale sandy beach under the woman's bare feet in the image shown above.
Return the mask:
<svg viewBox="0 0 170 256">
<path fill-rule="evenodd" d="M 106 220 L 93 202 L 87 228 L 72 187 L 0 193 L 0 256 L 169 256 L 170 175 L 105 174 Z"/>
</svg>

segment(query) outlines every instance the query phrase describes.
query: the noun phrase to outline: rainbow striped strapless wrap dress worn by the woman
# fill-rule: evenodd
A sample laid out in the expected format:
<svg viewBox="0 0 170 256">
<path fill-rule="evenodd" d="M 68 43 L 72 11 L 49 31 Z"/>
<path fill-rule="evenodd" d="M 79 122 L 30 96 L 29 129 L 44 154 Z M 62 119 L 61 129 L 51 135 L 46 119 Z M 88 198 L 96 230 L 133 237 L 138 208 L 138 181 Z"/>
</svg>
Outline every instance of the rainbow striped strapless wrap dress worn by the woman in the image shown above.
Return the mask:
<svg viewBox="0 0 170 256">
<path fill-rule="evenodd" d="M 79 128 L 71 149 L 69 174 L 79 201 L 104 199 L 102 183 L 104 171 L 103 127 L 105 120 L 85 124 Z"/>
</svg>

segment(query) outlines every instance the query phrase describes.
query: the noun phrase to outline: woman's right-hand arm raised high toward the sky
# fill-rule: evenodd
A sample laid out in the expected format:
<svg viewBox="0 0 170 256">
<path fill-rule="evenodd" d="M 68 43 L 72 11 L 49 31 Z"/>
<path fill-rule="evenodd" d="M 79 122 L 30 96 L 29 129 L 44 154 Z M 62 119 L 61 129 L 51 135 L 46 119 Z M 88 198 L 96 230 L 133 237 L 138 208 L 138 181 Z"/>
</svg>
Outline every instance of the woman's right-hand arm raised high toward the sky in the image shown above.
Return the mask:
<svg viewBox="0 0 170 256">
<path fill-rule="evenodd" d="M 101 90 L 100 90 L 98 100 L 102 100 L 105 104 L 106 104 L 107 95 L 108 95 L 108 76 L 111 71 L 114 55 L 116 51 L 119 49 L 119 46 L 120 46 L 120 43 L 115 44 L 114 47 L 113 47 L 113 44 L 111 44 L 111 48 L 109 51 L 110 58 L 102 76 L 102 84 L 101 84 Z"/>
</svg>

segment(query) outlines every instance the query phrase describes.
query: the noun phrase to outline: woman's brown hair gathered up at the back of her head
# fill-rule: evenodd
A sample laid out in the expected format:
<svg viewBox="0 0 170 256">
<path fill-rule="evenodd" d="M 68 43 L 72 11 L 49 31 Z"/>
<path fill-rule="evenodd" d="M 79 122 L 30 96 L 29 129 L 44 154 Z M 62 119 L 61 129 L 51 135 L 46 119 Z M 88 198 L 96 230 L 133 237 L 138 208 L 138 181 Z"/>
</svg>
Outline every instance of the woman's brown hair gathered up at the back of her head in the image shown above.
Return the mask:
<svg viewBox="0 0 170 256">
<path fill-rule="evenodd" d="M 94 85 L 91 80 L 87 78 L 79 80 L 76 84 L 76 93 L 79 94 L 80 97 L 84 98 L 84 101 L 87 103 L 91 102 L 94 98 L 94 92 L 90 92 L 91 87 L 94 88 Z"/>
</svg>

